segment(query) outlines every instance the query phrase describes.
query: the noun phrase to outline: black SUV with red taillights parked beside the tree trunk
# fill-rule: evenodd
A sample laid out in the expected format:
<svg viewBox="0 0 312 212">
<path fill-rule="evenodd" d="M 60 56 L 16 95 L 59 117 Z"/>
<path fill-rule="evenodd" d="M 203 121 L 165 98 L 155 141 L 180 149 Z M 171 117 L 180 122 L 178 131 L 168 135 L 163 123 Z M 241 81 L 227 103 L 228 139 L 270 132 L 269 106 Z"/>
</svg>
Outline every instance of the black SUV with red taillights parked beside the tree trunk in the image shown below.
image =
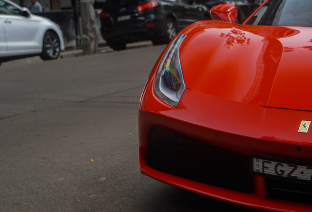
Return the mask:
<svg viewBox="0 0 312 212">
<path fill-rule="evenodd" d="M 101 13 L 102 36 L 115 50 L 126 43 L 168 43 L 190 24 L 210 19 L 206 6 L 194 0 L 106 0 Z"/>
</svg>

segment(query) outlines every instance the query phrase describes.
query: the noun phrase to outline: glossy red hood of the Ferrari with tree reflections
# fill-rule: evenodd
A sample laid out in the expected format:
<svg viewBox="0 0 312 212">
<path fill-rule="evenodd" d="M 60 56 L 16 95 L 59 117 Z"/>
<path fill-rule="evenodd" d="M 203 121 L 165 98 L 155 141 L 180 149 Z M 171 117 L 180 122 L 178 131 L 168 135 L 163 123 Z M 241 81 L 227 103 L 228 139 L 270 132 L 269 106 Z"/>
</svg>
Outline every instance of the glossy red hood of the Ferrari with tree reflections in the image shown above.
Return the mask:
<svg viewBox="0 0 312 212">
<path fill-rule="evenodd" d="M 312 111 L 312 28 L 208 21 L 184 40 L 188 89 L 257 106 Z"/>
</svg>

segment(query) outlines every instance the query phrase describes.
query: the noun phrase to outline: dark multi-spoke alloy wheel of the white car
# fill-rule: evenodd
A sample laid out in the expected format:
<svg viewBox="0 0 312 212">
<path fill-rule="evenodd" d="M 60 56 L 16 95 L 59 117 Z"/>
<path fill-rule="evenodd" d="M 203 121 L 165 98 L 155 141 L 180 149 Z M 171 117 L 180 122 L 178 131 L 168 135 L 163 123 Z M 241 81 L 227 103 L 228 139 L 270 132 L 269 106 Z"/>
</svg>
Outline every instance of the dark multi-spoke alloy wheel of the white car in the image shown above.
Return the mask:
<svg viewBox="0 0 312 212">
<path fill-rule="evenodd" d="M 47 31 L 43 37 L 41 59 L 57 59 L 60 54 L 60 41 L 55 32 Z"/>
</svg>

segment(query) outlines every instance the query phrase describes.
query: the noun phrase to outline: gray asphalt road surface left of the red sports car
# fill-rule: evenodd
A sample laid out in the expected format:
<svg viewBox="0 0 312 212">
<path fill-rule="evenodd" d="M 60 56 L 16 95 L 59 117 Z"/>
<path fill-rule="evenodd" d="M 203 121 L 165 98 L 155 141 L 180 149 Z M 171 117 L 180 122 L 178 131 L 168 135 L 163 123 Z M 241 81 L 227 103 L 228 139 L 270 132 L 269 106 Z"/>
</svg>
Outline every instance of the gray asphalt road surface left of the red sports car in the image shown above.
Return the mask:
<svg viewBox="0 0 312 212">
<path fill-rule="evenodd" d="M 251 211 L 140 174 L 138 102 L 163 48 L 0 67 L 1 212 Z"/>
</svg>

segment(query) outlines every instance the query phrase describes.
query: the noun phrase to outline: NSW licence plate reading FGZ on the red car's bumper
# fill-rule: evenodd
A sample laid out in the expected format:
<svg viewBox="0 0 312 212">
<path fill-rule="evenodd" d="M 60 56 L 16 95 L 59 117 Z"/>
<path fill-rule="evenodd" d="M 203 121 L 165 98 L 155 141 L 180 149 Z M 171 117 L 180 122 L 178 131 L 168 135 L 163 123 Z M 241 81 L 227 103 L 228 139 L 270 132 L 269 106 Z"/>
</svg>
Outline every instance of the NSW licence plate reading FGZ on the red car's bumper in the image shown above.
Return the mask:
<svg viewBox="0 0 312 212">
<path fill-rule="evenodd" d="M 267 178 L 312 184 L 312 162 L 250 154 L 250 172 Z"/>
</svg>

